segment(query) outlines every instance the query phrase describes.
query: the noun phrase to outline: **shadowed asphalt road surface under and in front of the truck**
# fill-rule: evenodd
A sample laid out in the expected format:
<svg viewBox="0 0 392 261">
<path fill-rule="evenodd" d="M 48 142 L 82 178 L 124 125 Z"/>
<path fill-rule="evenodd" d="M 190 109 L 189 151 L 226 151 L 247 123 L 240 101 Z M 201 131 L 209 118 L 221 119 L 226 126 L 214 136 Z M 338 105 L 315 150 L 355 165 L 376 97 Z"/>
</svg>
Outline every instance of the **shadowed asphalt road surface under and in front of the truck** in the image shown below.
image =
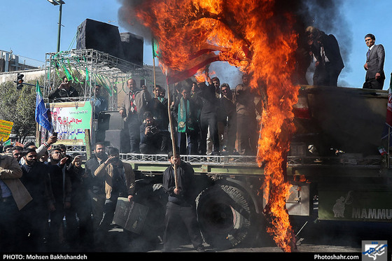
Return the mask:
<svg viewBox="0 0 392 261">
<path fill-rule="evenodd" d="M 296 220 L 293 228 L 297 234 L 297 251 L 300 253 L 361 253 L 362 241 L 389 240 L 392 242 L 392 223 L 360 223 Z M 306 225 L 304 225 L 306 223 Z M 157 253 L 162 251 L 163 244 L 146 241 L 137 234 L 124 233 L 120 227 L 114 227 L 110 232 L 113 239 L 109 252 L 140 252 Z M 283 253 L 267 233 L 262 232 L 258 242 L 252 246 L 238 246 L 217 249 L 204 244 L 207 252 L 214 253 Z M 388 242 L 389 242 L 388 241 Z M 176 253 L 196 252 L 188 239 L 179 240 Z"/>
</svg>

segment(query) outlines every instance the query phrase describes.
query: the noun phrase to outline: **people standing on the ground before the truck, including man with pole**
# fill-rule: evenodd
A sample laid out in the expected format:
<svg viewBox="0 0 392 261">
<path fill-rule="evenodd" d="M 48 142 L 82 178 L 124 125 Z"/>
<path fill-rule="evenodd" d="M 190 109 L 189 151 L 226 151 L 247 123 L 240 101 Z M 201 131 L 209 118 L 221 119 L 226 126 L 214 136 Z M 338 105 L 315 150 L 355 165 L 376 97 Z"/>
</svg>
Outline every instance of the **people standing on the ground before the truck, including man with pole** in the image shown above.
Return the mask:
<svg viewBox="0 0 392 261">
<path fill-rule="evenodd" d="M 48 150 L 50 148 L 50 150 Z M 78 153 L 66 154 L 57 137 L 37 148 L 34 142 L 0 151 L 0 251 L 107 251 L 118 197 L 134 200 L 135 174 L 120 160 L 118 148 L 94 144 L 82 165 Z M 2 152 L 2 153 L 1 153 Z M 163 251 L 172 251 L 176 224 L 188 227 L 195 250 L 204 251 L 192 190 L 193 168 L 169 152 L 163 174 L 168 206 Z M 174 181 L 174 166 L 179 178 Z M 65 222 L 64 222 L 65 220 Z M 125 230 L 124 230 L 125 231 Z M 125 231 L 128 239 L 132 233 Z"/>
</svg>

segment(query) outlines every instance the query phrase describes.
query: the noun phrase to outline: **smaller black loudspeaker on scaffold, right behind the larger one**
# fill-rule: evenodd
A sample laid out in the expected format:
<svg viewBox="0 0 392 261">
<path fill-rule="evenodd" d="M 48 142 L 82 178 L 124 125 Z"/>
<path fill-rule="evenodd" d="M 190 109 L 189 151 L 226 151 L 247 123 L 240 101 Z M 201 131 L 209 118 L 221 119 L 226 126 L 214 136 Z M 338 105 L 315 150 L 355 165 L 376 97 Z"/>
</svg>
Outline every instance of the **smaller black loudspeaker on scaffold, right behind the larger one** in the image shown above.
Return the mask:
<svg viewBox="0 0 392 261">
<path fill-rule="evenodd" d="M 120 37 L 123 44 L 124 59 L 132 62 L 132 64 L 143 66 L 143 37 L 131 33 L 121 33 Z"/>
</svg>

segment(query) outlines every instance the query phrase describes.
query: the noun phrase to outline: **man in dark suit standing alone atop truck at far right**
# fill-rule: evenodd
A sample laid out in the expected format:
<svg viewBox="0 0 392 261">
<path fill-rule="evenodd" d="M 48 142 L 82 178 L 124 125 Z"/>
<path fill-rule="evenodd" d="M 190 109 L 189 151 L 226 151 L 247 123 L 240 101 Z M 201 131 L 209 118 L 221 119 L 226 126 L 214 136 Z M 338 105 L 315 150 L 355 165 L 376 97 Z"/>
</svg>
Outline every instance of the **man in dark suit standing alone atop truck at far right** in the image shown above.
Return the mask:
<svg viewBox="0 0 392 261">
<path fill-rule="evenodd" d="M 366 63 L 363 65 L 366 71 L 363 88 L 382 90 L 385 80 L 385 50 L 383 45 L 375 45 L 375 41 L 376 37 L 373 34 L 365 35 L 365 43 L 369 50 L 366 54 Z"/>
</svg>

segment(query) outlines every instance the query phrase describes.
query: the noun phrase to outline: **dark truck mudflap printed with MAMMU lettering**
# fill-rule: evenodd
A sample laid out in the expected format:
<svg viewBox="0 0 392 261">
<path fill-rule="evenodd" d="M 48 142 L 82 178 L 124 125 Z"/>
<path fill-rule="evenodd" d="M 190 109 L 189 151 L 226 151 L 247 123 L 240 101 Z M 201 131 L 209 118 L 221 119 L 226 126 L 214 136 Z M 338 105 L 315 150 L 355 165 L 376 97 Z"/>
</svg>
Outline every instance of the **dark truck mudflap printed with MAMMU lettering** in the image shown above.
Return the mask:
<svg viewBox="0 0 392 261">
<path fill-rule="evenodd" d="M 319 190 L 318 219 L 392 221 L 391 190 Z"/>
</svg>

